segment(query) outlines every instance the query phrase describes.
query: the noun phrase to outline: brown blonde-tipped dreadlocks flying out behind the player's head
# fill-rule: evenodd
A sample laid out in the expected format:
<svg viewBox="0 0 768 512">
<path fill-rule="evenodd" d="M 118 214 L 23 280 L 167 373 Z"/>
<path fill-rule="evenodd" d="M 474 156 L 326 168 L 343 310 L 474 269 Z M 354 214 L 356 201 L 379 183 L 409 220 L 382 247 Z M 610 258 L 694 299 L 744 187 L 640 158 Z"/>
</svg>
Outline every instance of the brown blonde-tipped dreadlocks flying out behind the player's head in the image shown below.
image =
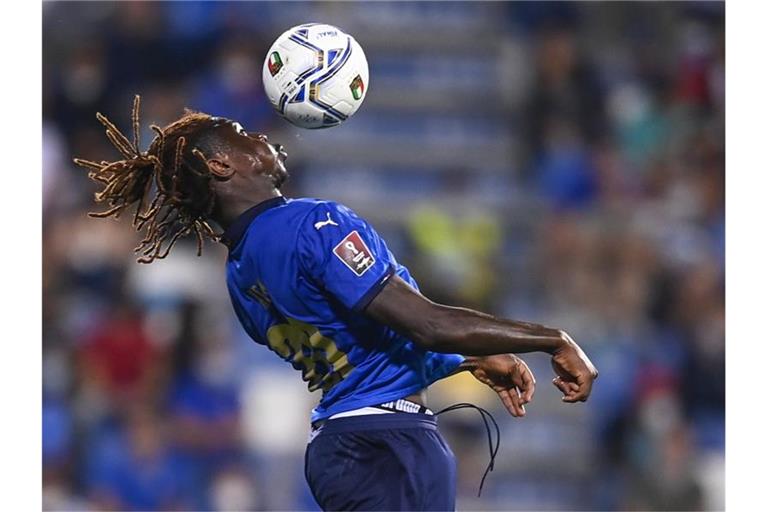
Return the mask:
<svg viewBox="0 0 768 512">
<path fill-rule="evenodd" d="M 106 128 L 107 138 L 122 154 L 114 162 L 92 162 L 76 158 L 77 165 L 88 169 L 88 176 L 104 185 L 97 192 L 97 203 L 106 203 L 103 212 L 91 212 L 91 217 L 114 217 L 136 205 L 133 226 L 136 231 L 146 228 L 146 236 L 136 247 L 140 263 L 151 263 L 168 256 L 176 241 L 194 233 L 197 254 L 202 254 L 205 237 L 218 240 L 208 218 L 213 211 L 215 194 L 213 176 L 206 158 L 198 148 L 187 143 L 201 129 L 215 124 L 215 118 L 200 112 L 190 112 L 165 128 L 152 125 L 157 134 L 146 152 L 139 150 L 138 95 L 133 100 L 131 121 L 133 140 L 101 113 L 96 118 Z M 163 246 L 165 245 L 165 248 Z"/>
</svg>

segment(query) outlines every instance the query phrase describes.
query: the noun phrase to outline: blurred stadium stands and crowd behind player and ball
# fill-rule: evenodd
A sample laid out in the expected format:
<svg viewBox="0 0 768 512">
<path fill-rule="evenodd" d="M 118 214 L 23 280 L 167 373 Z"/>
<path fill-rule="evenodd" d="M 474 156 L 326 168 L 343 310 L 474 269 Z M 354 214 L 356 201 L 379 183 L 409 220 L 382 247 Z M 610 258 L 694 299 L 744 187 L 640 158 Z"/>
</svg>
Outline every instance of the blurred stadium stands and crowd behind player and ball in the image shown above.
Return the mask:
<svg viewBox="0 0 768 512">
<path fill-rule="evenodd" d="M 338 25 L 366 50 L 346 125 L 293 129 L 260 76 L 286 28 Z M 43 4 L 45 509 L 317 509 L 303 479 L 315 397 L 230 311 L 222 247 L 134 263 L 127 225 L 89 219 L 73 155 L 185 106 L 286 145 L 286 195 L 369 218 L 425 293 L 568 330 L 600 369 L 563 406 L 546 357 L 528 417 L 467 377 L 433 408 L 461 509 L 724 507 L 724 5 Z"/>
</svg>

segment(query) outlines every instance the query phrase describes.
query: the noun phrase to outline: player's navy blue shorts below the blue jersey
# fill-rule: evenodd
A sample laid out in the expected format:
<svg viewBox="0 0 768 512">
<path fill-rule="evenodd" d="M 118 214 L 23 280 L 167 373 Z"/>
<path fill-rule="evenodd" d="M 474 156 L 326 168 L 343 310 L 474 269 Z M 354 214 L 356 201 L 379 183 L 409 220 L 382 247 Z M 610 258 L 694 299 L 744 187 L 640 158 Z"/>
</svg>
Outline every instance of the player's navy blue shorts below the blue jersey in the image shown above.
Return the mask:
<svg viewBox="0 0 768 512">
<path fill-rule="evenodd" d="M 456 508 L 456 460 L 427 414 L 328 420 L 307 445 L 304 472 L 323 510 Z"/>
</svg>

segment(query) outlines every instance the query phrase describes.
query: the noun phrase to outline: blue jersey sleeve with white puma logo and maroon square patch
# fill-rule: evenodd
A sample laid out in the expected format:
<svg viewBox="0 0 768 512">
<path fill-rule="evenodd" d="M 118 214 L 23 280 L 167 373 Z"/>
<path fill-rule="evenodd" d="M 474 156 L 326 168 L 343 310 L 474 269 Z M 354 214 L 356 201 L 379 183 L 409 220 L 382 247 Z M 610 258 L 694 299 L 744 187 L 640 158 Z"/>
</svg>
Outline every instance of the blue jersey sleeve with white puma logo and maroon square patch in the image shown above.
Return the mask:
<svg viewBox="0 0 768 512">
<path fill-rule="evenodd" d="M 395 271 L 376 230 L 349 208 L 321 203 L 307 215 L 297 239 L 299 266 L 344 306 L 363 310 Z"/>
</svg>

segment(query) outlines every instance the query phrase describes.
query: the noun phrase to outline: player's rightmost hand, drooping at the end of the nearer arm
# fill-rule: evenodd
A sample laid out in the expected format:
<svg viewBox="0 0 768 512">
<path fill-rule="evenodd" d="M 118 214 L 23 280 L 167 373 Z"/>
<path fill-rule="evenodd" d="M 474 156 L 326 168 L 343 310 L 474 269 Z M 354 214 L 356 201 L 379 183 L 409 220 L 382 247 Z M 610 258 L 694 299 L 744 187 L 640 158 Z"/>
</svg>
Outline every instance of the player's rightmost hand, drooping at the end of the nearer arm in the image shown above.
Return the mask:
<svg viewBox="0 0 768 512">
<path fill-rule="evenodd" d="M 563 392 L 563 402 L 586 402 L 597 379 L 597 368 L 566 332 L 562 335 L 563 346 L 552 354 L 556 375 L 552 384 Z"/>
</svg>

